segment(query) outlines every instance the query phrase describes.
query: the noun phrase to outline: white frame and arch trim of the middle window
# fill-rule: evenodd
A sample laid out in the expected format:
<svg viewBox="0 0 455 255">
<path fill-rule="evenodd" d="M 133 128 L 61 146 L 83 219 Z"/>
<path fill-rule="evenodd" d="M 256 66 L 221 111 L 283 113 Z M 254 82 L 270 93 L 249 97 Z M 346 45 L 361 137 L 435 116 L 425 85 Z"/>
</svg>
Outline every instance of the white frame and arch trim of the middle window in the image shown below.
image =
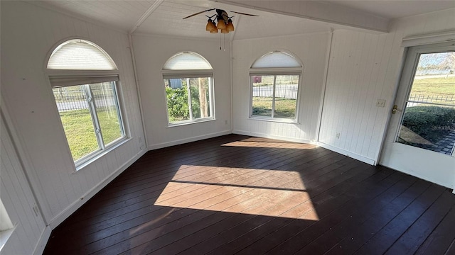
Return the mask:
<svg viewBox="0 0 455 255">
<path fill-rule="evenodd" d="M 198 55 L 198 57 L 201 57 L 203 60 L 205 60 L 204 57 L 199 55 L 198 53 L 195 52 L 180 52 L 173 57 L 176 57 L 178 55 L 181 55 L 182 53 L 190 53 L 194 55 Z M 169 58 L 171 60 L 173 57 Z M 211 67 L 210 63 L 205 60 L 205 62 L 208 63 L 208 66 Z M 166 61 L 167 63 L 167 61 Z M 165 64 L 166 65 L 166 64 Z M 188 124 L 193 124 L 193 123 L 201 123 L 205 121 L 210 121 L 210 120 L 215 120 L 215 97 L 214 97 L 214 81 L 213 81 L 213 69 L 163 69 L 162 70 L 162 76 L 163 76 L 163 85 L 164 85 L 164 97 L 166 98 L 166 118 L 168 120 L 168 128 L 171 127 L 176 127 L 179 125 L 188 125 Z M 168 100 L 167 100 L 167 94 L 166 94 L 166 85 L 165 85 L 165 80 L 168 79 L 191 79 L 191 78 L 209 78 L 208 80 L 208 98 L 209 98 L 209 117 L 206 118 L 198 118 L 194 119 L 193 114 L 192 114 L 192 109 L 191 109 L 191 91 L 190 87 L 188 84 L 188 111 L 190 114 L 190 119 L 189 120 L 181 120 L 178 122 L 172 122 L 170 121 L 169 118 L 169 111 L 168 111 Z"/>
</svg>

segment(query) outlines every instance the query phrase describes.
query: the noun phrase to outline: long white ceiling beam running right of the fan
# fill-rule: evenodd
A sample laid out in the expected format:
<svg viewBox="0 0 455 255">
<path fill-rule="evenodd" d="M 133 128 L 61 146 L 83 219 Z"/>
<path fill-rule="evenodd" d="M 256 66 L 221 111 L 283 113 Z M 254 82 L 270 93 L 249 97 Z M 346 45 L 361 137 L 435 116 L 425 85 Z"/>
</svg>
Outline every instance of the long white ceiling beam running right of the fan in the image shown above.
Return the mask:
<svg viewBox="0 0 455 255">
<path fill-rule="evenodd" d="M 324 1 L 240 1 L 210 0 L 232 6 L 251 8 L 259 11 L 278 13 L 299 18 L 308 18 L 353 28 L 387 33 L 390 19 L 365 13 L 354 8 L 339 6 Z"/>
</svg>

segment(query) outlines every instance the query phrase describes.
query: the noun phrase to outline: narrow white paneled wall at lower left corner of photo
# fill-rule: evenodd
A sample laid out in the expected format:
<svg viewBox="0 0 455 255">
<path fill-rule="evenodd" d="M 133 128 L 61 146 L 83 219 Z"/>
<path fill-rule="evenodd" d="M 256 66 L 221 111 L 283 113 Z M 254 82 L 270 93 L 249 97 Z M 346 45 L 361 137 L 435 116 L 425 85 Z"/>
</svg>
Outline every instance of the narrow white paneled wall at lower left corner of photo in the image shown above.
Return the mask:
<svg viewBox="0 0 455 255">
<path fill-rule="evenodd" d="M 0 118 L 0 198 L 11 222 L 16 225 L 1 254 L 33 254 L 44 232 L 45 223 L 41 214 L 35 215 L 33 212 L 36 200 L 28 186 L 3 116 L 0 115 Z"/>
</svg>

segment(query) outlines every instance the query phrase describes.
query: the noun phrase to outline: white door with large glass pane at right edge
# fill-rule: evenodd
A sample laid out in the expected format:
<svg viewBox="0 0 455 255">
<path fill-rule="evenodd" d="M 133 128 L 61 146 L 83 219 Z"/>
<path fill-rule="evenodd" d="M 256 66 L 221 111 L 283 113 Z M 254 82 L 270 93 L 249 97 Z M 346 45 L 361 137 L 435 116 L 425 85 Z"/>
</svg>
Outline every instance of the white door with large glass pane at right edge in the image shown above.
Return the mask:
<svg viewBox="0 0 455 255">
<path fill-rule="evenodd" d="M 455 186 L 455 45 L 410 47 L 380 164 Z"/>
</svg>

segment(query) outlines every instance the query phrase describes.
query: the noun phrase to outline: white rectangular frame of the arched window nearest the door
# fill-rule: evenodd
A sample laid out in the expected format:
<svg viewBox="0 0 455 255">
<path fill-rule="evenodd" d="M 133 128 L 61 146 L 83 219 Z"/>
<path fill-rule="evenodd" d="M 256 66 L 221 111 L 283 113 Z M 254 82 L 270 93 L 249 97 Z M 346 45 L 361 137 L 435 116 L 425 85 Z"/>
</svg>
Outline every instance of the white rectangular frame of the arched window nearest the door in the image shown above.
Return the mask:
<svg viewBox="0 0 455 255">
<path fill-rule="evenodd" d="M 299 106 L 300 106 L 300 91 L 301 91 L 301 77 L 303 73 L 303 67 L 283 67 L 283 68 L 251 68 L 250 69 L 250 115 L 249 118 L 252 120 L 265 120 L 279 123 L 299 123 Z M 279 75 L 298 75 L 299 82 L 297 87 L 297 98 L 296 98 L 296 114 L 295 118 L 276 118 L 274 117 L 274 105 L 275 105 L 275 93 L 276 93 L 276 79 Z M 272 116 L 259 116 L 253 115 L 253 77 L 255 76 L 273 76 L 273 98 L 272 98 Z"/>
</svg>

